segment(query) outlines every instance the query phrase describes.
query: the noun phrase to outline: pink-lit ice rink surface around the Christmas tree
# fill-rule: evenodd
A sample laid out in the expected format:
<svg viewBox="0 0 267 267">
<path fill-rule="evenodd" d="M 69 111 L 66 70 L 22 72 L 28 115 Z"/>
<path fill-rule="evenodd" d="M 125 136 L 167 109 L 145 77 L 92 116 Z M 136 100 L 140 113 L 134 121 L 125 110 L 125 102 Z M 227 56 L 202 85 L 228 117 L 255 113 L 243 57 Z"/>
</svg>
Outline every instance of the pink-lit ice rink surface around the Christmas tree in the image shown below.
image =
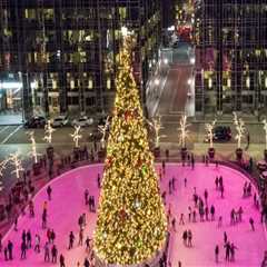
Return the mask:
<svg viewBox="0 0 267 267">
<path fill-rule="evenodd" d="M 157 171 L 161 168 L 156 167 Z M 91 165 L 73 169 L 50 182 L 52 187 L 52 200 L 48 201 L 48 227 L 56 231 L 56 245 L 59 254 L 66 257 L 66 266 L 75 267 L 78 261 L 83 264 L 86 251 L 85 246 L 78 246 L 78 217 L 87 214 L 87 227 L 85 236 L 92 237 L 96 225 L 96 214 L 89 212 L 83 202 L 85 189 L 89 189 L 89 194 L 98 200 L 99 189 L 97 188 L 97 174 L 102 174 L 102 165 Z M 219 192 L 215 188 L 215 177 L 222 176 L 225 185 L 225 198 L 220 198 Z M 171 266 L 178 266 L 178 260 L 184 266 L 191 267 L 209 267 L 209 266 L 240 266 L 240 267 L 259 267 L 267 249 L 266 229 L 260 224 L 259 210 L 254 206 L 253 197 L 243 198 L 243 186 L 247 178 L 228 167 L 214 165 L 208 167 L 197 164 L 195 169 L 190 167 L 181 167 L 178 164 L 167 164 L 166 174 L 161 180 L 161 190 L 168 191 L 168 181 L 176 177 L 176 191 L 172 195 L 167 194 L 167 206 L 171 206 L 171 214 L 176 217 L 176 231 L 172 229 L 169 245 L 169 261 Z M 187 178 L 187 187 L 184 186 L 184 179 Z M 208 205 L 211 204 L 216 209 L 216 220 L 200 222 L 188 221 L 188 207 L 194 207 L 192 192 L 196 187 L 197 194 L 204 199 L 204 190 L 208 190 Z M 255 191 L 255 190 L 254 190 Z M 38 267 L 55 266 L 43 260 L 43 245 L 47 240 L 46 230 L 41 228 L 41 212 L 43 201 L 47 200 L 46 188 L 40 190 L 34 197 L 36 217 L 29 218 L 28 214 L 19 218 L 18 231 L 10 229 L 3 238 L 3 245 L 10 239 L 14 244 L 14 259 L 12 261 L 3 260 L 3 253 L 0 254 L 1 267 Z M 243 221 L 236 226 L 230 226 L 229 217 L 233 208 L 239 207 L 244 209 Z M 180 214 L 185 214 L 186 224 L 179 225 Z M 222 216 L 222 227 L 218 228 L 218 217 Z M 255 231 L 249 226 L 249 217 L 255 220 Z M 20 259 L 20 244 L 22 230 L 30 229 L 32 234 L 32 243 L 34 243 L 34 234 L 41 235 L 41 253 L 36 254 L 32 249 L 27 253 L 27 259 Z M 181 235 L 185 229 L 192 231 L 192 247 L 185 247 Z M 68 236 L 70 230 L 76 235 L 75 248 L 68 250 Z M 227 233 L 228 239 L 236 247 L 236 260 L 226 263 L 224 249 L 224 231 Z M 215 263 L 215 246 L 219 245 L 219 263 Z"/>
</svg>

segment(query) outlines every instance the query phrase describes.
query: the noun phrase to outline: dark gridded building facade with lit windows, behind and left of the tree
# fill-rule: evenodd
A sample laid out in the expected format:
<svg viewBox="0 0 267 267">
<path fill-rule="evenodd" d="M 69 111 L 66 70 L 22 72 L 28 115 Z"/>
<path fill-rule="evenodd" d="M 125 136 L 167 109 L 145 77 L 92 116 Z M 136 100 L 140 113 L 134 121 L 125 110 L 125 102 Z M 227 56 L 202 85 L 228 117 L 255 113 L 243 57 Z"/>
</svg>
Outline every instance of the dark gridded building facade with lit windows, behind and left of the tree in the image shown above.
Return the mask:
<svg viewBox="0 0 267 267">
<path fill-rule="evenodd" d="M 1 0 L 1 90 L 16 96 L 21 87 L 24 117 L 109 111 L 126 27 L 137 40 L 134 71 L 145 102 L 160 10 L 160 0 Z"/>
</svg>

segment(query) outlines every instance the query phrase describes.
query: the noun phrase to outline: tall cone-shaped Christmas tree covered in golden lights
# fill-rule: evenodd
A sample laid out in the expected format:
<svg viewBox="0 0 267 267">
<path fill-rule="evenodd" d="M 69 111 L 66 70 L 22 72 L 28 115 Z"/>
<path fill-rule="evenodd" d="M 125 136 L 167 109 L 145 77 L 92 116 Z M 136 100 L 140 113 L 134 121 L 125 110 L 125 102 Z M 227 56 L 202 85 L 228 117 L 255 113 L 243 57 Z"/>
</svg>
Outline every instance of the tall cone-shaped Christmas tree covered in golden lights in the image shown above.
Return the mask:
<svg viewBox="0 0 267 267">
<path fill-rule="evenodd" d="M 167 219 L 139 92 L 131 70 L 131 38 L 120 52 L 117 95 L 107 145 L 95 251 L 106 264 L 135 265 L 165 245 Z"/>
</svg>

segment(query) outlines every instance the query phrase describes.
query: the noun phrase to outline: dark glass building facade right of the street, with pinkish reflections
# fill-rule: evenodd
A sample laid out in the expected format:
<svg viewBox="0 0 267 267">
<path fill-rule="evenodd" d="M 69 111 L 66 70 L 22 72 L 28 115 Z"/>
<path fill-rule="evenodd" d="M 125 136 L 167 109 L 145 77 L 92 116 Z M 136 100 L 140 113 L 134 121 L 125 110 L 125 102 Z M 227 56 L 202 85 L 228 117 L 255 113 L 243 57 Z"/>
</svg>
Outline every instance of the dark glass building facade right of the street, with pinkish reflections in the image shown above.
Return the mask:
<svg viewBox="0 0 267 267">
<path fill-rule="evenodd" d="M 195 1 L 196 112 L 267 107 L 267 0 Z"/>
</svg>

